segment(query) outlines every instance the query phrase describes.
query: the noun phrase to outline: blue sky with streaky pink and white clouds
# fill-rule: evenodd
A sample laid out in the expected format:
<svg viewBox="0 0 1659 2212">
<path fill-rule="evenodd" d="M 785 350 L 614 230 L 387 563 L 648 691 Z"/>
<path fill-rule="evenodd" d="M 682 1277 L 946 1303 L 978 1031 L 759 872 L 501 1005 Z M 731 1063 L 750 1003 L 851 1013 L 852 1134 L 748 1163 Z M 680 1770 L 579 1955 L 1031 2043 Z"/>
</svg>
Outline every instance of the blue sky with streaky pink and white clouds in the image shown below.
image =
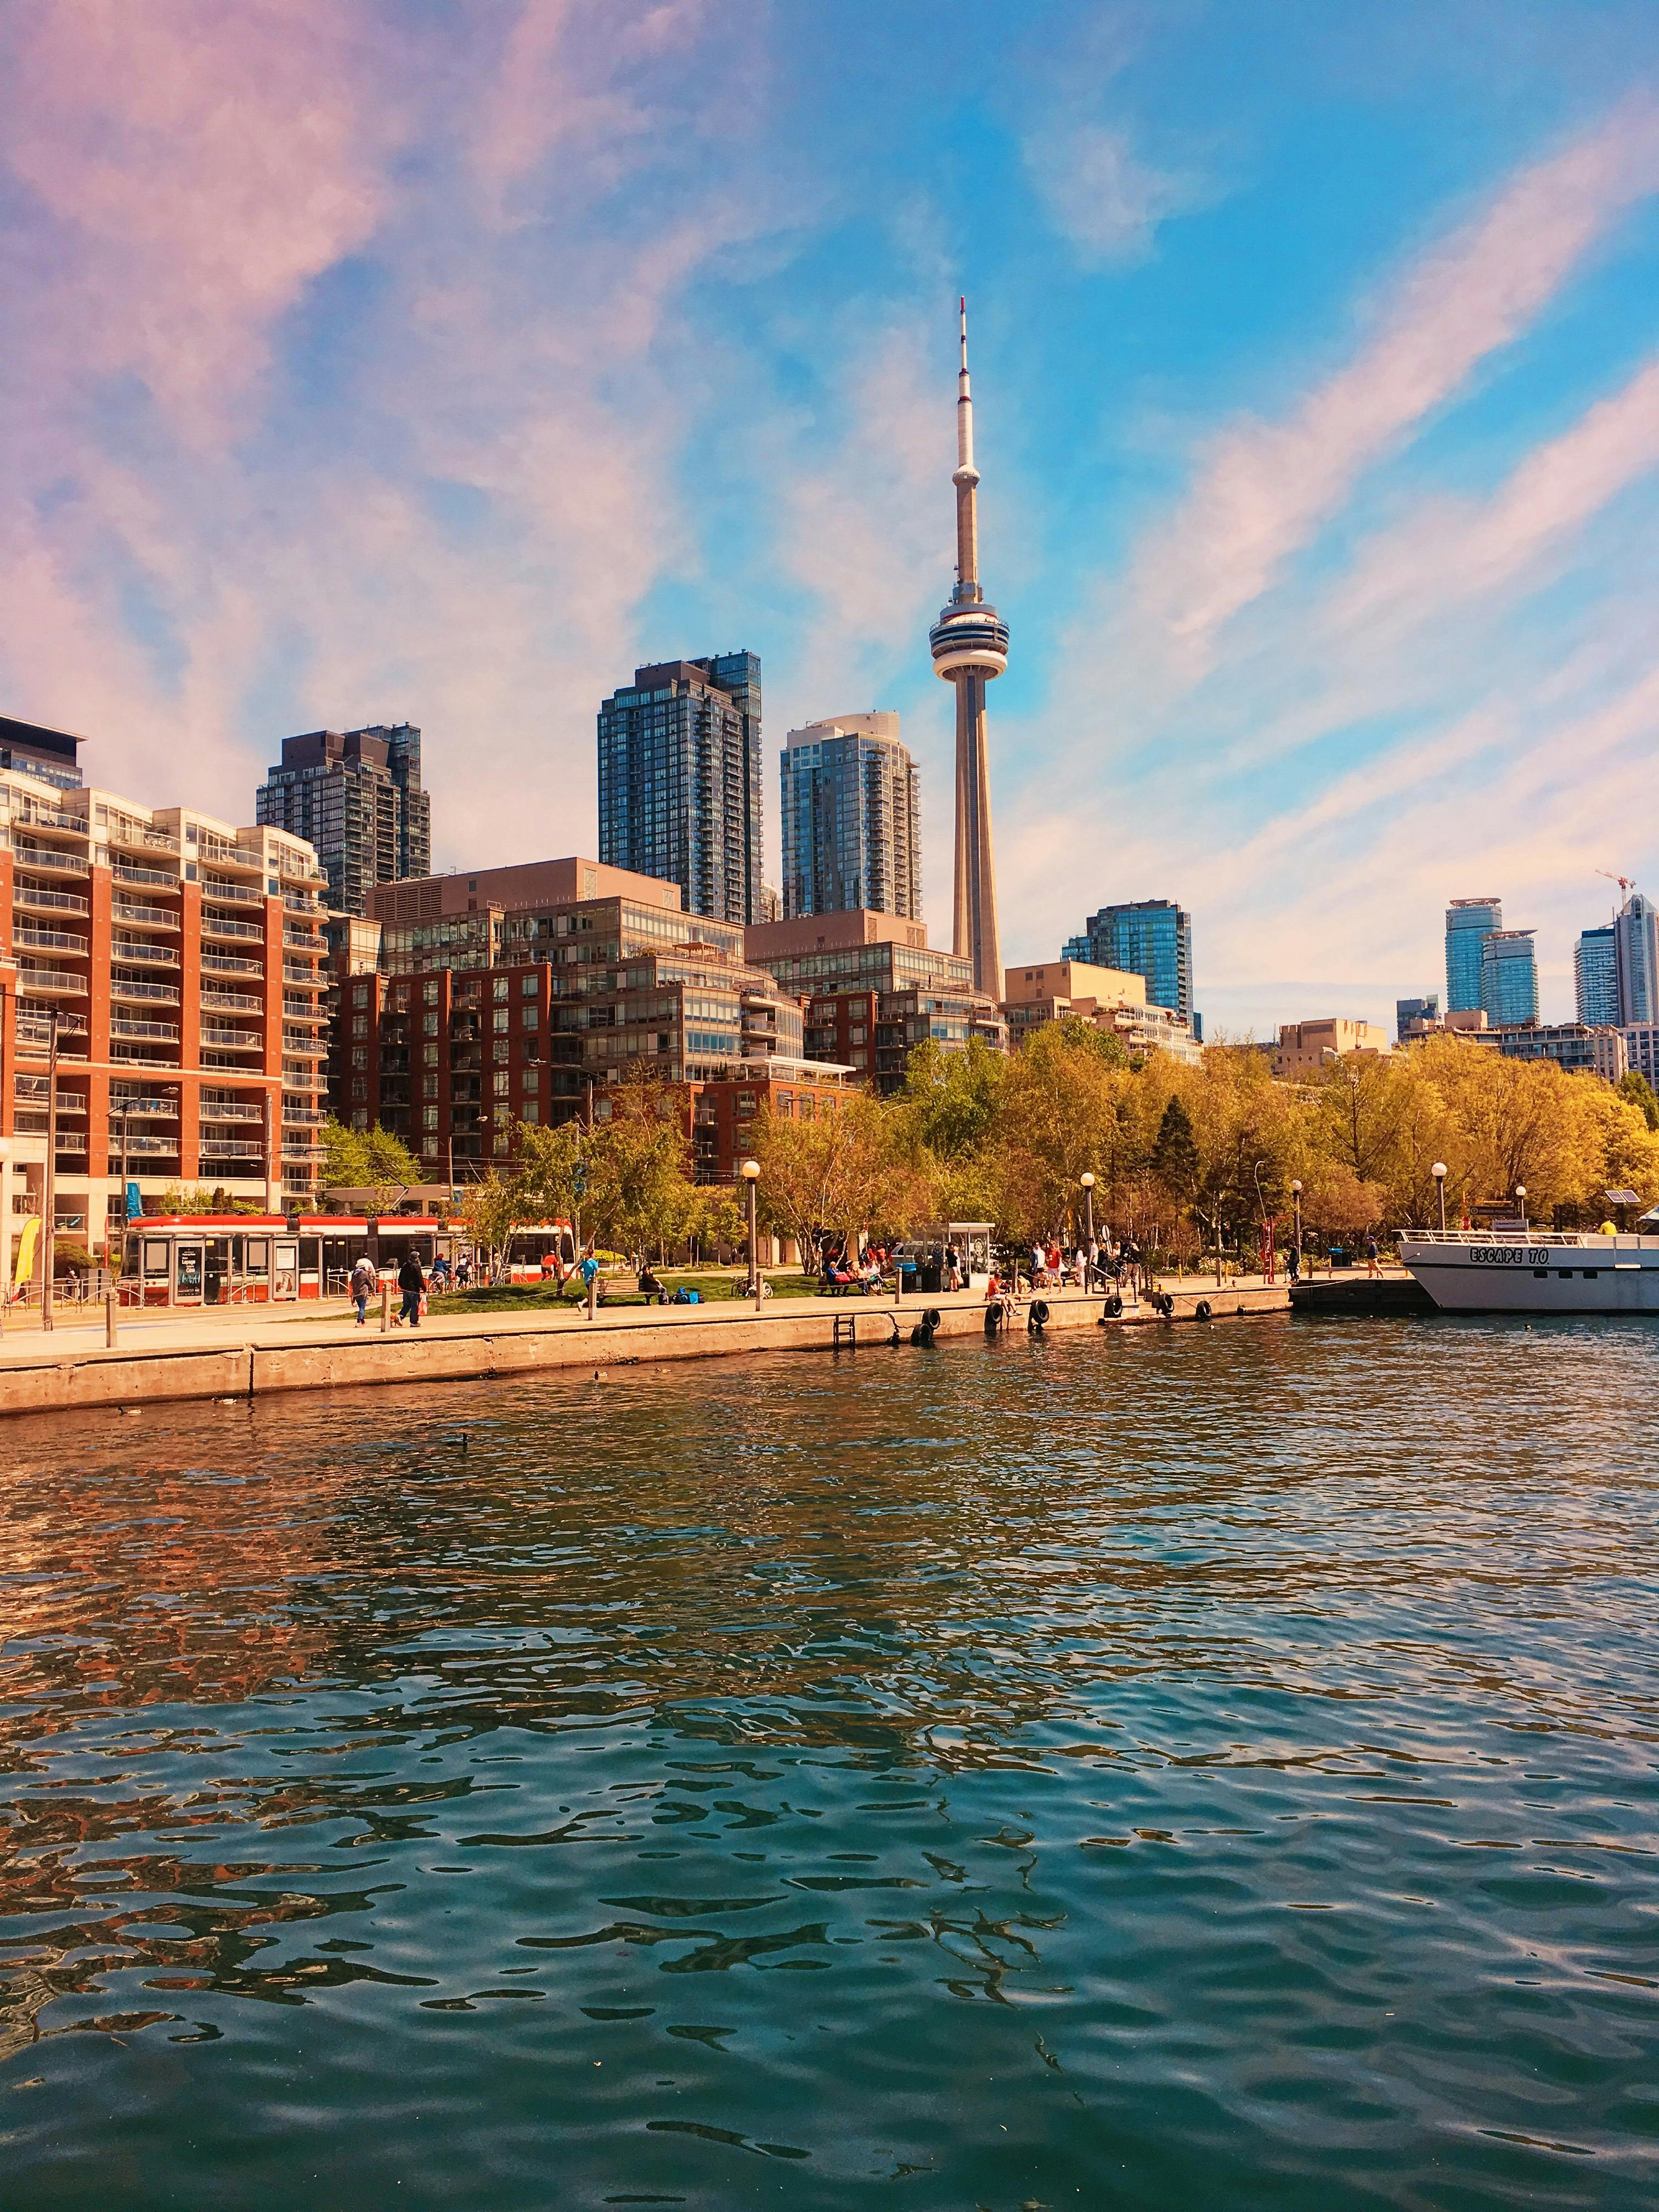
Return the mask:
<svg viewBox="0 0 1659 2212">
<path fill-rule="evenodd" d="M 246 821 L 411 717 L 447 865 L 750 646 L 898 708 L 949 940 L 969 294 L 1002 933 L 1192 907 L 1210 1031 L 1659 885 L 1659 11 L 115 0 L 0 18 L 0 699 Z M 768 854 L 776 865 L 774 761 Z"/>
</svg>

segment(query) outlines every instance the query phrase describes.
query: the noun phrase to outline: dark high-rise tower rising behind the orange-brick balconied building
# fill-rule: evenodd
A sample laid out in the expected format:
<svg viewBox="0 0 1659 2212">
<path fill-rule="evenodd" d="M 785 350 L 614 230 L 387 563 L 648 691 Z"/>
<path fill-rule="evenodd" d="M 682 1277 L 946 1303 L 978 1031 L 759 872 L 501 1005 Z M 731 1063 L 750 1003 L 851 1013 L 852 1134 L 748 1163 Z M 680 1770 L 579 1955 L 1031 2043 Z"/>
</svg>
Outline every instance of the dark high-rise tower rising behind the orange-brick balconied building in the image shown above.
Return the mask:
<svg viewBox="0 0 1659 2212">
<path fill-rule="evenodd" d="M 420 787 L 420 730 L 307 730 L 259 785 L 254 821 L 316 847 L 334 914 L 367 914 L 369 885 L 431 867 L 431 799 Z"/>
</svg>

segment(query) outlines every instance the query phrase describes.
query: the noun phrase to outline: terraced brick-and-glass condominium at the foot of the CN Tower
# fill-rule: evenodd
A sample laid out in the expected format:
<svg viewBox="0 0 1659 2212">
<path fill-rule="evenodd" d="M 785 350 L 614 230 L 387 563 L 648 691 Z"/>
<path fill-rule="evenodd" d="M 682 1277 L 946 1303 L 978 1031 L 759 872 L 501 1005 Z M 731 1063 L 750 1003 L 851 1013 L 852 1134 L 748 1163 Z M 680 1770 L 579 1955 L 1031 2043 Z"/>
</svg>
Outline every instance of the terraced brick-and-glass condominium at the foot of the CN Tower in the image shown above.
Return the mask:
<svg viewBox="0 0 1659 2212">
<path fill-rule="evenodd" d="M 845 1064 L 880 1093 L 905 1086 L 922 1042 L 1006 1051 L 998 1002 L 973 989 L 973 960 L 940 953 L 920 922 L 891 914 L 816 914 L 745 933 L 745 953 L 781 991 L 805 1000 L 805 1051 Z"/>
</svg>

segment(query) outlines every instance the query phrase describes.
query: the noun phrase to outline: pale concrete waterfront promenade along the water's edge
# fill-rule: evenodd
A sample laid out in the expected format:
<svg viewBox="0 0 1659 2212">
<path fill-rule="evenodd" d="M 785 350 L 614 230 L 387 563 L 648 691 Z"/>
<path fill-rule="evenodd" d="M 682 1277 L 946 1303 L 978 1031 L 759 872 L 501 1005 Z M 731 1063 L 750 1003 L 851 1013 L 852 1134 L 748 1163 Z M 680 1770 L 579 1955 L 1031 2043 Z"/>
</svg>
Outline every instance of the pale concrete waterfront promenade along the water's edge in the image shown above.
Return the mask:
<svg viewBox="0 0 1659 2212">
<path fill-rule="evenodd" d="M 1283 1312 L 1283 1283 L 1241 1276 L 1217 1290 L 1192 1276 L 1161 1285 L 1170 1321 L 1192 1321 L 1199 1305 L 1214 1318 Z M 1104 1318 L 1097 1292 L 1051 1290 L 1048 1329 L 1093 1327 Z M 0 1413 L 75 1407 L 144 1407 L 184 1398 L 248 1398 L 268 1391 L 345 1389 L 387 1383 L 491 1380 L 538 1369 L 611 1369 L 657 1360 L 714 1358 L 737 1352 L 834 1352 L 909 1343 L 925 1312 L 938 1312 L 938 1336 L 984 1332 L 980 1292 L 894 1298 L 745 1298 L 710 1305 L 602 1305 L 593 1321 L 580 1305 L 491 1307 L 476 1314 L 431 1314 L 418 1329 L 380 1332 L 378 1312 L 358 1329 L 347 1301 L 283 1307 L 217 1307 L 210 1312 L 122 1314 L 115 1349 L 95 1323 L 0 1340 Z M 1031 1301 L 1020 1301 L 1011 1327 L 1026 1332 Z M 1150 1301 L 1126 1303 L 1108 1327 L 1161 1325 Z"/>
</svg>

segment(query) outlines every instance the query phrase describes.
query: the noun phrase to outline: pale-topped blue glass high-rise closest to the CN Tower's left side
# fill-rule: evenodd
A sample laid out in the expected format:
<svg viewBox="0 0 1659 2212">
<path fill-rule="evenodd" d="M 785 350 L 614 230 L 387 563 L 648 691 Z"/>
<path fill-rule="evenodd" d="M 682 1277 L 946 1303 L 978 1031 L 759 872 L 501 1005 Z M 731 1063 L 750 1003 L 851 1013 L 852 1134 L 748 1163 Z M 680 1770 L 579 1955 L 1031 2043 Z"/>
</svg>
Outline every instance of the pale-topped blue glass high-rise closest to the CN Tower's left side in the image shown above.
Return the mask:
<svg viewBox="0 0 1659 2212">
<path fill-rule="evenodd" d="M 898 714 L 834 714 L 790 730 L 783 772 L 783 918 L 874 914 L 922 918 L 922 827 L 916 763 Z"/>
</svg>

